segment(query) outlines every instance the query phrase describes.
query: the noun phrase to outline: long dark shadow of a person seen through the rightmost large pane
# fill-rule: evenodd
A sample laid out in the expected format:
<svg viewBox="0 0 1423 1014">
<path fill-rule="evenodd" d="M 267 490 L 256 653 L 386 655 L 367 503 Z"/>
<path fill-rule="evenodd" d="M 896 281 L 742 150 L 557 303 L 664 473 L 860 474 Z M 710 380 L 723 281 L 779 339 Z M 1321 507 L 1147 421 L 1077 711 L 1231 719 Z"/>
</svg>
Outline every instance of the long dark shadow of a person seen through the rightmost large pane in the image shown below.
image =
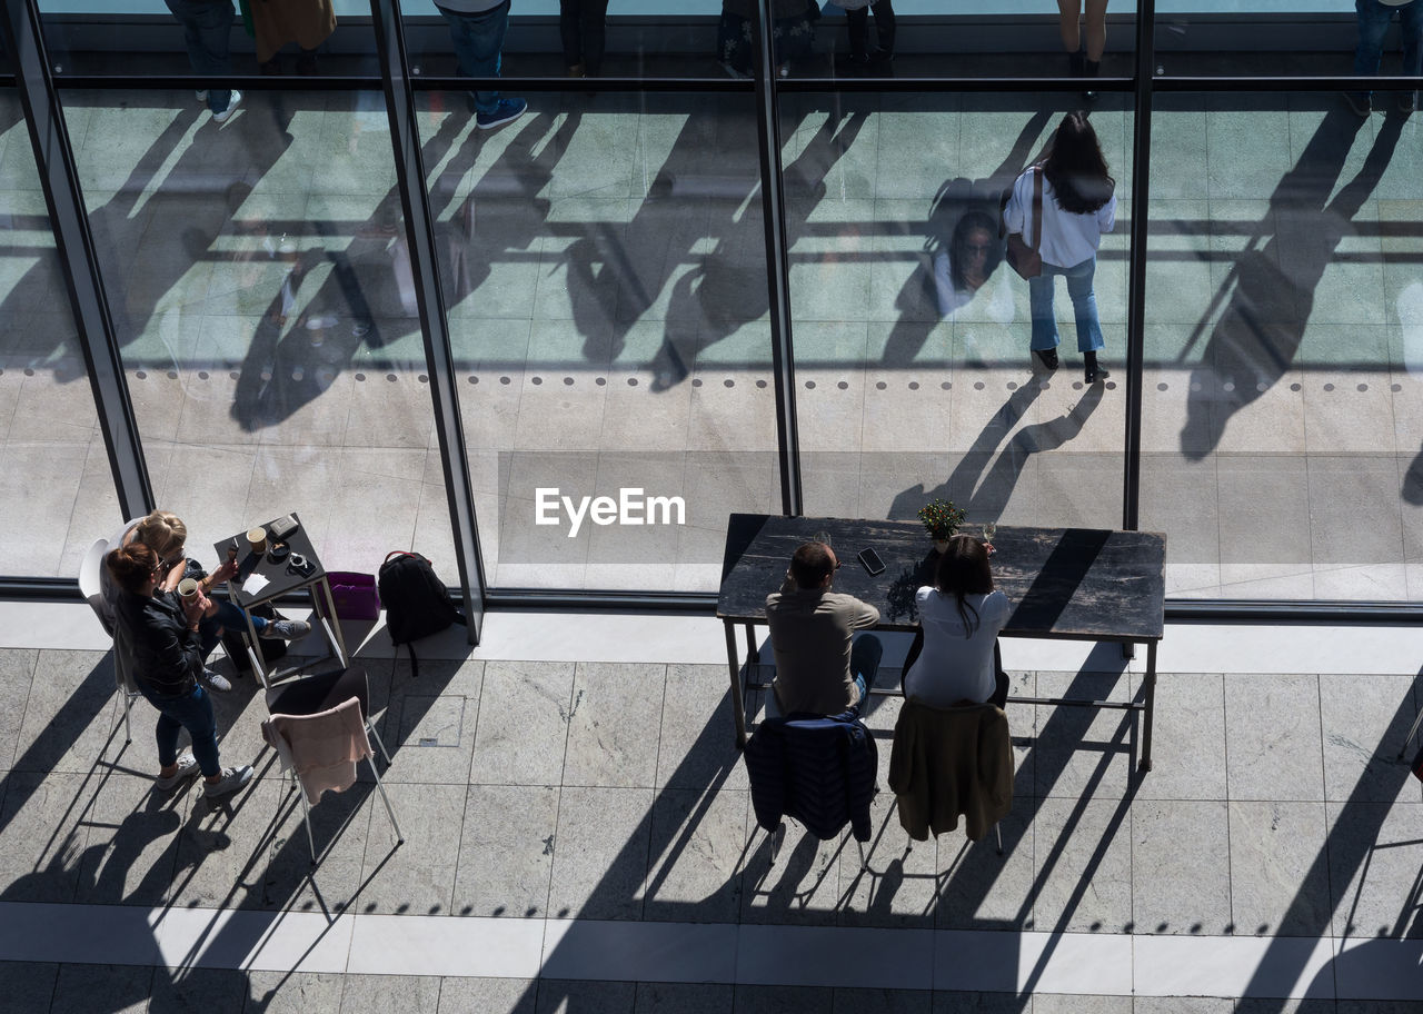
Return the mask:
<svg viewBox="0 0 1423 1014">
<path fill-rule="evenodd" d="M 1222 283 L 1222 292 L 1234 286 L 1229 302 L 1191 373 L 1181 430 L 1181 454 L 1188 460 L 1210 454 L 1231 417 L 1295 363 L 1319 281 L 1340 241 L 1353 235 L 1353 218 L 1392 161 L 1407 117 L 1383 120 L 1363 167 L 1335 192 L 1365 122 L 1342 104 L 1325 114 L 1295 167 L 1275 187 L 1265 219 Z M 1266 234 L 1269 239 L 1261 246 Z M 1207 325 L 1202 319 L 1195 332 Z M 1180 353 L 1181 360 L 1191 345 Z"/>
</svg>

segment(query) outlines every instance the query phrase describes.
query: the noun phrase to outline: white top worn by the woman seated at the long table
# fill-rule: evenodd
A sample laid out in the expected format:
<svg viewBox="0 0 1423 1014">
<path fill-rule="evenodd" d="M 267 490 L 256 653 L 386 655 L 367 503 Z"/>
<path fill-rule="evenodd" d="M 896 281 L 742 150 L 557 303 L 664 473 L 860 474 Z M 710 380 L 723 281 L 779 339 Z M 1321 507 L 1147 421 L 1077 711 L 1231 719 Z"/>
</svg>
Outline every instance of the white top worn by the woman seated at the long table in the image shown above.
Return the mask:
<svg viewBox="0 0 1423 1014">
<path fill-rule="evenodd" d="M 904 676 L 904 695 L 932 708 L 951 708 L 959 701 L 988 701 L 998 685 L 993 669 L 993 642 L 1013 611 L 1007 595 L 965 595 L 966 605 L 978 611 L 978 625 L 968 632 L 959 617 L 955 595 L 933 587 L 915 592 L 924 651 Z M 969 611 L 972 618 L 973 611 Z"/>
</svg>

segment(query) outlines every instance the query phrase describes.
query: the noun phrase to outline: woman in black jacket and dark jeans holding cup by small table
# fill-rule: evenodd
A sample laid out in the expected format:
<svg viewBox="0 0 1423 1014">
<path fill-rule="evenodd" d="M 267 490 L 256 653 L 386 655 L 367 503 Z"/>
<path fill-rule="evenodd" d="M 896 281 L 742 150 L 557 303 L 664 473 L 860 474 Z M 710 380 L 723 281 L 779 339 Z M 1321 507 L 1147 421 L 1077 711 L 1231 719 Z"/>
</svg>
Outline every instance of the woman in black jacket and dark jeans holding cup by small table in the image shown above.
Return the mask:
<svg viewBox="0 0 1423 1014">
<path fill-rule="evenodd" d="M 198 682 L 203 674 L 198 624 L 208 597 L 199 588 L 184 602 L 178 592 L 159 588 L 161 561 L 142 543 L 114 550 L 105 564 L 124 590 L 114 610 L 114 649 L 124 652 L 139 692 L 158 709 L 158 788 L 175 789 L 201 769 L 209 799 L 236 792 L 252 780 L 252 768 L 222 766 L 212 699 Z M 192 753 L 178 753 L 182 729 L 192 736 Z"/>
</svg>

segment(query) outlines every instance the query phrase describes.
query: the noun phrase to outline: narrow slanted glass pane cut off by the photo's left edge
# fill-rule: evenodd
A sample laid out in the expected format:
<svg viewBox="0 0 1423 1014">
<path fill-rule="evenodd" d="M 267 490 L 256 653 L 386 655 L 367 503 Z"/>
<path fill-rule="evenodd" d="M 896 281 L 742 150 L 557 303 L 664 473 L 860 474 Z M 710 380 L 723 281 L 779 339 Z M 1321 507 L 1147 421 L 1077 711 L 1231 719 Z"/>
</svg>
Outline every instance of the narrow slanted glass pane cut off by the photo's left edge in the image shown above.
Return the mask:
<svg viewBox="0 0 1423 1014">
<path fill-rule="evenodd" d="M 18 95 L 0 90 L 0 574 L 74 577 L 120 523 Z M 58 520 L 58 521 L 57 521 Z"/>
</svg>

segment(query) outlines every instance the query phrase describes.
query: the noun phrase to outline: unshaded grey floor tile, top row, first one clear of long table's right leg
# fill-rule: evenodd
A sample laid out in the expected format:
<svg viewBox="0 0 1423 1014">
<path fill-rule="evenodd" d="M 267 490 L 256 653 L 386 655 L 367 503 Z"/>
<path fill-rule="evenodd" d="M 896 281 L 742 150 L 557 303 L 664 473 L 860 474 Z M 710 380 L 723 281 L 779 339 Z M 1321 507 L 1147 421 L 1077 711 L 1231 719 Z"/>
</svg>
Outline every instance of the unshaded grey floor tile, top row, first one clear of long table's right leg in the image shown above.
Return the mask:
<svg viewBox="0 0 1423 1014">
<path fill-rule="evenodd" d="M 1225 676 L 1229 798 L 1323 799 L 1316 676 Z"/>
</svg>

